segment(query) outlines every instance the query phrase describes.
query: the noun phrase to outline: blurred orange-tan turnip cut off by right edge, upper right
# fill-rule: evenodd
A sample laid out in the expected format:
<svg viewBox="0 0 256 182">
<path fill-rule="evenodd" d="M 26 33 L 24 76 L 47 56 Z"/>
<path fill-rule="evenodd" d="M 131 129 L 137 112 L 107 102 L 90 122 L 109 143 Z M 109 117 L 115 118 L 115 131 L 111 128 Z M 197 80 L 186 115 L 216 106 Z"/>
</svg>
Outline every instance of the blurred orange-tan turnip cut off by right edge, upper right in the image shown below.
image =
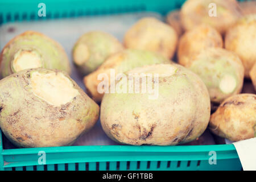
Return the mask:
<svg viewBox="0 0 256 182">
<path fill-rule="evenodd" d="M 256 14 L 247 15 L 228 30 L 225 36 L 225 48 L 236 52 L 245 67 L 245 77 L 256 63 Z"/>
</svg>

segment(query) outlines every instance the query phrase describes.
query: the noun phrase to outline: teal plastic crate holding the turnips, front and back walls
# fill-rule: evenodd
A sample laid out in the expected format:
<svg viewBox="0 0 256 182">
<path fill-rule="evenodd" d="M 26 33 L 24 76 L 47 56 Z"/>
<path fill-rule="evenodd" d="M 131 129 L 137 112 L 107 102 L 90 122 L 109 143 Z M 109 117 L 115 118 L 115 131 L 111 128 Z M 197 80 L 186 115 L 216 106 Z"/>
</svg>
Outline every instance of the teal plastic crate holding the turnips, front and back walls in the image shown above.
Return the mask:
<svg viewBox="0 0 256 182">
<path fill-rule="evenodd" d="M 38 4 L 46 3 L 46 17 L 38 17 Z M 165 15 L 183 1 L 0 1 L 0 24 L 25 20 L 155 11 Z M 210 164 L 211 151 L 216 164 Z M 45 154 L 45 155 L 44 155 Z M 45 156 L 44 160 L 41 160 Z M 233 144 L 208 146 L 68 146 L 3 149 L 0 130 L 0 170 L 241 170 Z"/>
</svg>

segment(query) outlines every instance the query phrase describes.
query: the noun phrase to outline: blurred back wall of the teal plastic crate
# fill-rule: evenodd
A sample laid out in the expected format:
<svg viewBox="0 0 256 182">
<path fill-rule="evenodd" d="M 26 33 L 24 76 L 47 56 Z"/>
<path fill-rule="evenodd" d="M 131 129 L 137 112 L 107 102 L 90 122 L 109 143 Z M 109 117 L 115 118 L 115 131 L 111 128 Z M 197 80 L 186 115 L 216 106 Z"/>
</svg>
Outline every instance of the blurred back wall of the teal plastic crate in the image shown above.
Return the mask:
<svg viewBox="0 0 256 182">
<path fill-rule="evenodd" d="M 155 11 L 166 14 L 170 10 L 181 7 L 184 1 L 185 0 L 0 0 L 0 24 L 24 20 L 74 18 L 77 16 L 95 16 L 138 11 Z M 38 16 L 39 3 L 46 4 L 46 17 Z"/>
</svg>

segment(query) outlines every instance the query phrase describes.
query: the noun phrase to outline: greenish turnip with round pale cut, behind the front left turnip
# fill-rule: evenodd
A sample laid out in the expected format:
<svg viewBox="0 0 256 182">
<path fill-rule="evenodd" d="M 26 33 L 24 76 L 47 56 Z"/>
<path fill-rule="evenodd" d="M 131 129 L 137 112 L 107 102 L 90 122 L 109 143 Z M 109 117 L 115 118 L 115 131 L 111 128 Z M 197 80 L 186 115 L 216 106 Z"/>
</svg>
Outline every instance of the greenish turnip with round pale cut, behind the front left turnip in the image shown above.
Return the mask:
<svg viewBox="0 0 256 182">
<path fill-rule="evenodd" d="M 71 73 L 63 47 L 34 31 L 26 31 L 6 44 L 0 55 L 0 67 L 1 77 L 30 68 L 58 69 Z"/>
</svg>

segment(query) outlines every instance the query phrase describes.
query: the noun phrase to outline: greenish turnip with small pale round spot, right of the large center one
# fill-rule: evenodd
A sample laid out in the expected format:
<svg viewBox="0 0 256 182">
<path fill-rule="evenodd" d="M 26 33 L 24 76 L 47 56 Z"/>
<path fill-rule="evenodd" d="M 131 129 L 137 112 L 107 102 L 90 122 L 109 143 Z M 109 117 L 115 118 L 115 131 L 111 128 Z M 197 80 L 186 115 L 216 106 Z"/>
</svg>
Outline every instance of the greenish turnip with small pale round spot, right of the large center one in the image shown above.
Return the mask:
<svg viewBox="0 0 256 182">
<path fill-rule="evenodd" d="M 220 103 L 242 90 L 244 68 L 240 58 L 222 48 L 207 48 L 195 56 L 187 68 L 200 76 L 210 100 Z"/>
</svg>

